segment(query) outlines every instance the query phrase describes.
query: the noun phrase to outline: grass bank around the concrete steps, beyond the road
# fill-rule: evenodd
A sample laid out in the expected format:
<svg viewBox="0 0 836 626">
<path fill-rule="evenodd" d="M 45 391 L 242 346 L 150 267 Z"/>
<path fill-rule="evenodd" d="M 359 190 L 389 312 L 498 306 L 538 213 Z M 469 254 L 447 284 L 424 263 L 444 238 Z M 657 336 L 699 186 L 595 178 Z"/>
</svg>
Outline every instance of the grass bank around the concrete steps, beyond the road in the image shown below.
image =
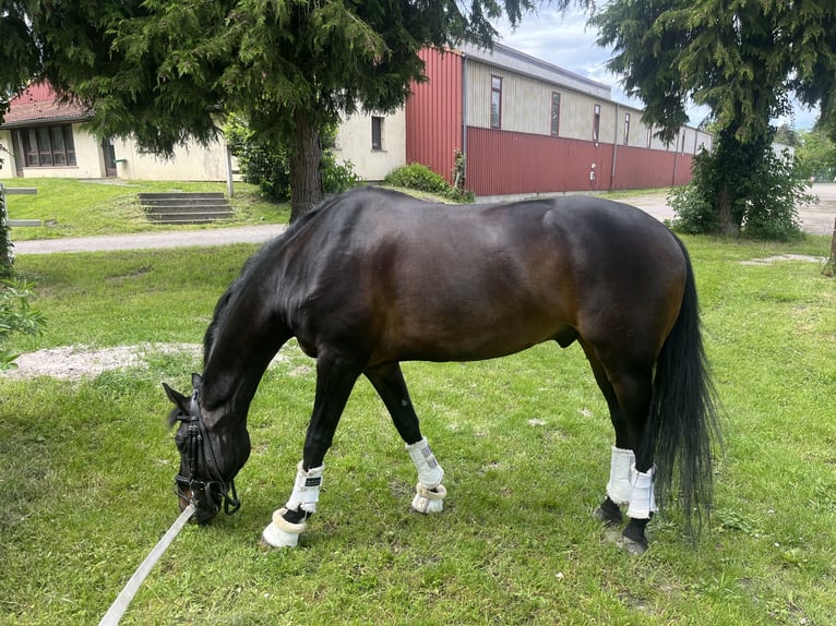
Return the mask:
<svg viewBox="0 0 836 626">
<path fill-rule="evenodd" d="M 36 195 L 8 195 L 10 219 L 39 219 L 41 227 L 12 229 L 12 241 L 120 234 L 129 232 L 174 230 L 178 228 L 218 228 L 223 226 L 286 224 L 290 209 L 285 204 L 263 200 L 254 185 L 236 182 L 235 195 L 229 198 L 235 217 L 211 226 L 160 226 L 145 217 L 138 194 L 148 191 L 219 191 L 226 193 L 226 183 L 219 182 L 157 182 L 123 180 L 71 179 L 0 179 L 5 186 L 27 186 L 38 190 Z"/>
</svg>

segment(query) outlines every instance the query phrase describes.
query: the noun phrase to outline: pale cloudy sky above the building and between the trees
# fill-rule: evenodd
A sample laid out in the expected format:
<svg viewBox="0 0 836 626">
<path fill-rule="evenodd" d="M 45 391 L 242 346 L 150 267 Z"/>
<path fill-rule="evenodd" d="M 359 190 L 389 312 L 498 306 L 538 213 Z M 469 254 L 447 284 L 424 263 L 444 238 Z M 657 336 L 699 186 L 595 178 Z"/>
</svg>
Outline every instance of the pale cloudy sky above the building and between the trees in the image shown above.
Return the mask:
<svg viewBox="0 0 836 626">
<path fill-rule="evenodd" d="M 574 9 L 561 13 L 546 4 L 537 14 L 524 15 L 516 31 L 507 22 L 502 22 L 497 29 L 502 35 L 501 44 L 548 61 L 554 65 L 581 74 L 612 87 L 612 99 L 617 103 L 642 107 L 640 100 L 628 98 L 619 77 L 607 71 L 605 64 L 612 51 L 595 44 L 597 29 L 586 26 L 586 15 Z M 707 109 L 689 109 L 689 124 L 697 125 L 707 115 Z M 796 107 L 796 130 L 812 128 L 817 118 L 817 110 L 810 111 L 800 105 Z M 780 122 L 791 123 L 781 119 Z"/>
</svg>

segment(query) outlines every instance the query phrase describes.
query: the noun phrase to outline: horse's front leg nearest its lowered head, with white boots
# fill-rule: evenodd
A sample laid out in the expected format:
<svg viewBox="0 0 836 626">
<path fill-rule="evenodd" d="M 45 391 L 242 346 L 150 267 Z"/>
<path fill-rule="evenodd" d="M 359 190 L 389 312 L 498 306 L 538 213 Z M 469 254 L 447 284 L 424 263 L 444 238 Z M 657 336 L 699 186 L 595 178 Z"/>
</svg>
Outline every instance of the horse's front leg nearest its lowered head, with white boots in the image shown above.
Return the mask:
<svg viewBox="0 0 836 626">
<path fill-rule="evenodd" d="M 308 424 L 303 458 L 285 506 L 273 513 L 262 539 L 274 547 L 294 547 L 317 511 L 325 453 L 331 447 L 339 417 L 360 375 L 361 368 L 345 356 L 320 356 L 317 360 L 317 396 Z"/>
</svg>

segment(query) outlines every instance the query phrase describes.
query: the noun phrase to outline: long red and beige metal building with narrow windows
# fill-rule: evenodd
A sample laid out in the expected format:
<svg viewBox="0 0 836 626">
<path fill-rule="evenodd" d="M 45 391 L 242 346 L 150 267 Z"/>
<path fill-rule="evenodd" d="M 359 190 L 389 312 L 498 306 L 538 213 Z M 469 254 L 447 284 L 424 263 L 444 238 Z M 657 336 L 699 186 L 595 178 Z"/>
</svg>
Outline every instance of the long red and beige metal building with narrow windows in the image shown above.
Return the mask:
<svg viewBox="0 0 836 626">
<path fill-rule="evenodd" d="M 421 57 L 429 81 L 406 105 L 406 160 L 453 182 L 461 151 L 478 196 L 672 186 L 710 147 L 693 128 L 665 145 L 609 86 L 505 46 Z"/>
</svg>

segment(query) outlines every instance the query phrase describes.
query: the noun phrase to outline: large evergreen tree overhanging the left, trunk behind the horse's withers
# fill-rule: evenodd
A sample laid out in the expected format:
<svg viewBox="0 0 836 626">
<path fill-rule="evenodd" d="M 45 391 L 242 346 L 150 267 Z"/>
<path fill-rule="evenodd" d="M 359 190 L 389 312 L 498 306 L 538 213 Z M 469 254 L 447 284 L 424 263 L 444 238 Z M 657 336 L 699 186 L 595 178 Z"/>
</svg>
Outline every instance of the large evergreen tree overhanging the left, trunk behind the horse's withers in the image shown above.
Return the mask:
<svg viewBox="0 0 836 626">
<path fill-rule="evenodd" d="M 322 129 L 358 109 L 396 109 L 422 77 L 421 48 L 489 46 L 492 20 L 504 11 L 516 24 L 534 4 L 0 0 L 0 80 L 12 93 L 24 79 L 46 77 L 89 105 L 97 134 L 132 134 L 158 154 L 190 139 L 205 143 L 219 118 L 241 113 L 264 141 L 288 151 L 296 218 L 321 196 Z"/>
</svg>

